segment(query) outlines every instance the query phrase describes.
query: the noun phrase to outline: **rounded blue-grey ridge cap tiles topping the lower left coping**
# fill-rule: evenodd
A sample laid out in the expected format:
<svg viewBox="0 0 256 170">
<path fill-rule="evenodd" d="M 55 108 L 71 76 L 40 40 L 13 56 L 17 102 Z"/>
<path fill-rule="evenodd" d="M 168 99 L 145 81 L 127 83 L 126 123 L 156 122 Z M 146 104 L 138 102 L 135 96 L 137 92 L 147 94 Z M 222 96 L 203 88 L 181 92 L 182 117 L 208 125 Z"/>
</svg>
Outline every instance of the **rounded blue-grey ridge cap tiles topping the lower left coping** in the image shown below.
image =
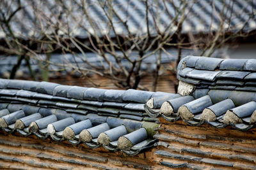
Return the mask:
<svg viewBox="0 0 256 170">
<path fill-rule="evenodd" d="M 113 101 L 117 103 L 135 102 L 146 103 L 152 97 L 169 95 L 166 92 L 148 92 L 143 90 L 107 90 L 87 87 L 77 87 L 70 85 L 60 85 L 58 83 L 7 80 L 0 79 L 0 89 L 19 89 L 49 94 L 51 96 L 67 97 L 89 101 Z"/>
</svg>

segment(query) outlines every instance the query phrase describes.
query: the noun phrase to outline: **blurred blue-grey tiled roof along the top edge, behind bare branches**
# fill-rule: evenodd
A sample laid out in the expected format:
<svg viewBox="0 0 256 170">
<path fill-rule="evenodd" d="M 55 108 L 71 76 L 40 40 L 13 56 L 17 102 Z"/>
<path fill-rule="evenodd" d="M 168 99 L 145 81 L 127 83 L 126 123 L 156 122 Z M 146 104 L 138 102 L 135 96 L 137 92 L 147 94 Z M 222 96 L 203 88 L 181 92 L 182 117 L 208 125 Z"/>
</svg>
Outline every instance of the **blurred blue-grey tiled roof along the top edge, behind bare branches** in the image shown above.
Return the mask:
<svg viewBox="0 0 256 170">
<path fill-rule="evenodd" d="M 19 1 L 1 1 L 3 6 L 10 6 L 12 11 L 18 8 Z M 14 34 L 19 35 L 22 38 L 41 36 L 40 29 L 44 27 L 42 25 L 42 19 L 36 19 L 35 13 L 33 13 L 33 8 L 38 8 L 38 12 L 44 13 L 45 17 L 50 22 L 56 24 L 56 17 L 61 16 L 60 11 L 67 11 L 72 13 L 67 17 L 58 17 L 61 20 L 62 27 L 58 34 L 63 34 L 63 32 L 70 32 L 73 36 L 79 38 L 88 38 L 88 32 L 93 32 L 91 25 L 86 19 L 83 12 L 82 4 L 79 1 L 64 1 L 63 5 L 55 1 L 20 1 L 22 9 L 16 13 L 10 22 L 10 27 L 13 29 Z M 88 11 L 94 24 L 97 25 L 95 28 L 101 34 L 108 30 L 109 22 L 108 18 L 104 14 L 104 11 L 100 7 L 100 1 L 86 1 L 85 8 Z M 112 2 L 112 6 L 115 9 L 116 15 L 113 15 L 113 25 L 116 28 L 117 34 L 127 34 L 127 27 L 132 34 L 141 34 L 147 32 L 147 20 L 146 20 L 146 5 L 144 1 L 135 0 L 115 0 Z M 172 2 L 169 1 L 159 1 L 158 6 L 156 4 L 149 2 L 148 6 L 150 8 L 150 15 L 148 15 L 148 24 L 150 31 L 154 34 L 156 28 L 154 27 L 156 20 L 152 17 L 161 16 L 159 18 L 159 30 L 165 29 L 168 24 L 172 23 L 172 19 L 175 17 L 177 10 L 175 8 L 182 7 L 179 0 Z M 244 23 L 246 23 L 243 28 L 244 31 L 252 31 L 256 28 L 255 16 L 251 15 L 253 7 L 255 7 L 255 1 L 196 1 L 195 3 L 188 3 L 188 10 L 186 11 L 187 18 L 184 20 L 182 25 L 182 32 L 208 32 L 210 29 L 216 31 L 218 25 L 221 24 L 221 17 L 228 18 L 227 22 L 230 21 L 230 25 L 226 24 L 227 29 L 232 28 L 232 30 L 243 28 Z M 226 8 L 223 8 L 223 6 Z M 72 8 L 69 8 L 72 6 Z M 88 8 L 90 6 L 90 8 Z M 106 8 L 108 8 L 106 6 Z M 180 8 L 181 9 L 181 8 Z M 223 15 L 221 11 L 223 10 Z M 7 11 L 4 11 L 7 13 Z M 44 16 L 42 14 L 42 16 Z M 181 14 L 180 14 L 181 15 Z M 230 17 L 231 15 L 231 17 Z M 180 16 L 179 16 L 180 17 Z M 252 17 L 252 20 L 249 18 Z M 77 20 L 79 18 L 79 20 Z M 122 21 L 127 21 L 125 24 L 121 24 Z M 249 20 L 249 21 L 248 21 Z M 248 21 L 248 22 L 247 22 Z M 58 24 L 58 26 L 60 26 Z M 45 31 L 51 32 L 52 30 L 45 25 Z M 174 29 L 174 27 L 173 27 Z M 113 32 L 112 32 L 113 34 Z M 4 32 L 0 29 L 0 35 L 3 38 L 5 36 Z"/>
</svg>

